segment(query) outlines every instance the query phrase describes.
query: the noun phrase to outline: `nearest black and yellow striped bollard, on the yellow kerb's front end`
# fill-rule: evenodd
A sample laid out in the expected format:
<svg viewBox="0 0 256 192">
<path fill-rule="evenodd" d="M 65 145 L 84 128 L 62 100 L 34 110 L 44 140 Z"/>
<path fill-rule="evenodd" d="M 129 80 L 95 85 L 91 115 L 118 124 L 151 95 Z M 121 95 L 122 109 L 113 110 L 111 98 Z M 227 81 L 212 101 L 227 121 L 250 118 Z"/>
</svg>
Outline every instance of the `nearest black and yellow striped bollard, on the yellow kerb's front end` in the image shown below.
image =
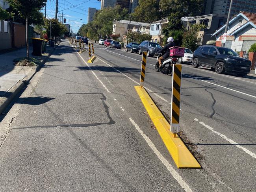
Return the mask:
<svg viewBox="0 0 256 192">
<path fill-rule="evenodd" d="M 181 64 L 173 64 L 172 101 L 171 101 L 171 132 L 177 137 L 180 132 L 180 86 L 181 86 Z"/>
</svg>

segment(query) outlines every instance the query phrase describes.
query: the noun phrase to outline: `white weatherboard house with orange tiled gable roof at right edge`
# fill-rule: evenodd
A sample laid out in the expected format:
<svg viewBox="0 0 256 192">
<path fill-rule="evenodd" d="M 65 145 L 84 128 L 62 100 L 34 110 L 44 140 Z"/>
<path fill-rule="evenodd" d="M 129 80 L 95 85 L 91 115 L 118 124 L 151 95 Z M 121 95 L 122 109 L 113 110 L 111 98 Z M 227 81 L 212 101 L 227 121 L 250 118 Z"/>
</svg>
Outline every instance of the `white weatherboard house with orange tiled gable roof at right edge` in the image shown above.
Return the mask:
<svg viewBox="0 0 256 192">
<path fill-rule="evenodd" d="M 226 24 L 211 34 L 216 37 L 216 46 L 221 46 L 225 27 Z M 240 12 L 229 21 L 225 47 L 247 52 L 254 43 L 256 43 L 256 13 Z"/>
</svg>

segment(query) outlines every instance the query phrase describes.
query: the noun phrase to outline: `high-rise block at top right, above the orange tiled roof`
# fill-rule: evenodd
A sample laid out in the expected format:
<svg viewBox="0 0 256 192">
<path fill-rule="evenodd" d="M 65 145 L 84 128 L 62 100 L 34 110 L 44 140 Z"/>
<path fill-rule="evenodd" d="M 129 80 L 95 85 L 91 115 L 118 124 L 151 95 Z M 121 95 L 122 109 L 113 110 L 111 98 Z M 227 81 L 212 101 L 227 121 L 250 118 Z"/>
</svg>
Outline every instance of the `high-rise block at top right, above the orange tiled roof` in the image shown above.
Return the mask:
<svg viewBox="0 0 256 192">
<path fill-rule="evenodd" d="M 228 15 L 230 0 L 207 0 L 204 6 L 204 15 Z M 232 3 L 231 17 L 245 11 L 256 13 L 256 0 L 236 0 Z"/>
</svg>

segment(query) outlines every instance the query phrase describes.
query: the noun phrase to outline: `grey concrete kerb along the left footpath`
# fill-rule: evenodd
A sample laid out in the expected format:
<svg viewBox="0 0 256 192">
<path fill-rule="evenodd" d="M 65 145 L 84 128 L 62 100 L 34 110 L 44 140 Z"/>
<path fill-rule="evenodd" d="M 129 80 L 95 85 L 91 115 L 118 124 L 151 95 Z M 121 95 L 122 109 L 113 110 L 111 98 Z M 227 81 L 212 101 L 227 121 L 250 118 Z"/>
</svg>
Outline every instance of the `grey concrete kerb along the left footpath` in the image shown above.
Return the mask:
<svg viewBox="0 0 256 192">
<path fill-rule="evenodd" d="M 60 44 L 60 42 L 57 44 L 57 46 Z M 57 47 L 56 46 L 56 47 Z M 52 55 L 52 53 L 54 52 L 54 50 L 56 49 L 56 47 L 54 47 L 54 49 L 52 49 L 52 51 L 47 55 L 47 57 L 45 57 L 45 59 L 43 59 L 43 61 L 41 61 L 41 64 L 38 66 L 34 66 L 31 70 L 31 72 L 23 79 L 19 80 L 17 83 L 15 83 L 15 85 L 13 85 L 13 87 L 11 87 L 11 89 L 9 89 L 8 92 L 6 92 L 4 94 L 4 96 L 2 96 L 2 98 L 0 98 L 0 114 L 4 112 L 4 110 L 6 109 L 6 107 L 11 103 L 11 101 L 13 100 L 13 98 L 15 98 L 15 96 L 17 96 L 17 94 L 20 92 L 20 90 L 25 86 L 28 85 L 30 82 L 30 79 L 33 78 L 33 76 L 35 75 L 36 72 L 38 72 L 42 66 L 45 65 L 46 61 L 48 60 L 48 58 Z"/>
</svg>

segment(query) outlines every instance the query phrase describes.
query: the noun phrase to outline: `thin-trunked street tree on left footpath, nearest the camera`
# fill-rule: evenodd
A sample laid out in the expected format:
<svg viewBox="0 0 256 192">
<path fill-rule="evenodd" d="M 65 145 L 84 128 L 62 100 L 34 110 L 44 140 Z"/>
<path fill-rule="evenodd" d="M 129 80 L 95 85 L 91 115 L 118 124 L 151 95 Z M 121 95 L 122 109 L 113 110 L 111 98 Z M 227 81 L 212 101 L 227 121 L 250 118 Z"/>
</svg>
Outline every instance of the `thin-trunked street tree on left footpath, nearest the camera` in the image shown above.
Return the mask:
<svg viewBox="0 0 256 192">
<path fill-rule="evenodd" d="M 26 46 L 27 46 L 27 57 L 29 57 L 29 46 L 28 46 L 28 19 L 30 15 L 42 9 L 47 0 L 7 0 L 14 10 L 19 12 L 20 17 L 26 19 Z"/>
</svg>

